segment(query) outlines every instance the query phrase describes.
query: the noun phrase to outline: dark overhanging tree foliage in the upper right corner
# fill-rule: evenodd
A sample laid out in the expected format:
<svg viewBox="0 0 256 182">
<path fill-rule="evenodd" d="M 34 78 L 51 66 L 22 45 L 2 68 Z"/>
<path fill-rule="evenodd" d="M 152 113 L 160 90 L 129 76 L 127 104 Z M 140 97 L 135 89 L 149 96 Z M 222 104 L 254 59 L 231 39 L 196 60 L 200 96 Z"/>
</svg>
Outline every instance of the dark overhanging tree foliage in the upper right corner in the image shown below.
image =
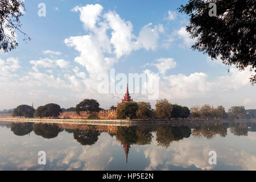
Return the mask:
<svg viewBox="0 0 256 182">
<path fill-rule="evenodd" d="M 209 16 L 209 3 L 216 3 L 217 16 Z M 226 65 L 240 70 L 251 66 L 256 72 L 255 0 L 189 0 L 179 12 L 190 16 L 186 30 L 196 38 L 192 49 L 208 53 L 212 59 L 221 56 Z M 256 83 L 256 74 L 250 78 Z"/>
</svg>

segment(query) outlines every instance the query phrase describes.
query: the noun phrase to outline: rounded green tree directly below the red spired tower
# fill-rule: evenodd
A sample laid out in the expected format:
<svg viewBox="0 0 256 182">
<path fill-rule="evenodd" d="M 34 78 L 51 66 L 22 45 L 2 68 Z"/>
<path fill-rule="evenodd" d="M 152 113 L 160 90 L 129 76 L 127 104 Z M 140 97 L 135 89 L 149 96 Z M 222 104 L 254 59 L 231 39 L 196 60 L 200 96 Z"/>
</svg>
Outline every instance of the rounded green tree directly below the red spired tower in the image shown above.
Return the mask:
<svg viewBox="0 0 256 182">
<path fill-rule="evenodd" d="M 136 118 L 136 114 L 138 111 L 137 102 L 125 102 L 123 104 L 118 105 L 117 107 L 117 117 L 119 119 L 134 119 Z"/>
</svg>

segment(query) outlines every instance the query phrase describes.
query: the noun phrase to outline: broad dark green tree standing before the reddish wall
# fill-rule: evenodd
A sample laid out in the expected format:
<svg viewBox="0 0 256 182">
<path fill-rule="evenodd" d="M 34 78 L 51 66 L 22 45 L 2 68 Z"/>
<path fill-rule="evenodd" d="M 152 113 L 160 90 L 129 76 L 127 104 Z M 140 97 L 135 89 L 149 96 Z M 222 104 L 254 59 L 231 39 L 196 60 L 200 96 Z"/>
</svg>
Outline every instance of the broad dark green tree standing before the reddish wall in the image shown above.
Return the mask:
<svg viewBox="0 0 256 182">
<path fill-rule="evenodd" d="M 88 111 L 90 118 L 92 112 L 100 111 L 100 104 L 94 99 L 85 99 L 76 105 L 76 113 L 80 114 L 80 111 Z"/>
</svg>

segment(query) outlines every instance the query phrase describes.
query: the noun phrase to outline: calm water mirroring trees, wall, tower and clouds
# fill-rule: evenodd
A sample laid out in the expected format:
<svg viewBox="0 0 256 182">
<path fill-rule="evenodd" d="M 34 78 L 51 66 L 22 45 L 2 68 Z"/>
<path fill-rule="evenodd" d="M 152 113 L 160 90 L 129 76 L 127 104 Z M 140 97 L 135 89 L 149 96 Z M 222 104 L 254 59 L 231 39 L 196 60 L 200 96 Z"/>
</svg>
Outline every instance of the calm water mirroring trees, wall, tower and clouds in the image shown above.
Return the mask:
<svg viewBox="0 0 256 182">
<path fill-rule="evenodd" d="M 256 122 L 0 122 L 0 148 L 0 170 L 256 170 Z M 46 165 L 38 164 L 39 151 L 46 152 Z M 216 151 L 216 165 L 209 164 L 209 151 Z"/>
</svg>

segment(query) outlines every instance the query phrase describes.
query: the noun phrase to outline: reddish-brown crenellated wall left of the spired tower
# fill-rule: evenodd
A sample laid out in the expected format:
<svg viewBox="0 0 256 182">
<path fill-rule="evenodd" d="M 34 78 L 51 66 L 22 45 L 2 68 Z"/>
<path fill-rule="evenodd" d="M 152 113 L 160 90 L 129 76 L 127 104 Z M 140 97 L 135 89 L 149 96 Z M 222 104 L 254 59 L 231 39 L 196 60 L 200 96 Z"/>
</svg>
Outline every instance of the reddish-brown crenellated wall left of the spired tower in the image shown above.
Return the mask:
<svg viewBox="0 0 256 182">
<path fill-rule="evenodd" d="M 88 111 L 81 111 L 80 114 L 77 114 L 75 111 L 65 111 L 59 115 L 58 118 L 70 118 L 70 119 L 81 119 L 88 118 Z M 117 110 L 101 110 L 98 112 L 90 113 L 90 118 L 96 119 L 117 119 Z"/>
</svg>

